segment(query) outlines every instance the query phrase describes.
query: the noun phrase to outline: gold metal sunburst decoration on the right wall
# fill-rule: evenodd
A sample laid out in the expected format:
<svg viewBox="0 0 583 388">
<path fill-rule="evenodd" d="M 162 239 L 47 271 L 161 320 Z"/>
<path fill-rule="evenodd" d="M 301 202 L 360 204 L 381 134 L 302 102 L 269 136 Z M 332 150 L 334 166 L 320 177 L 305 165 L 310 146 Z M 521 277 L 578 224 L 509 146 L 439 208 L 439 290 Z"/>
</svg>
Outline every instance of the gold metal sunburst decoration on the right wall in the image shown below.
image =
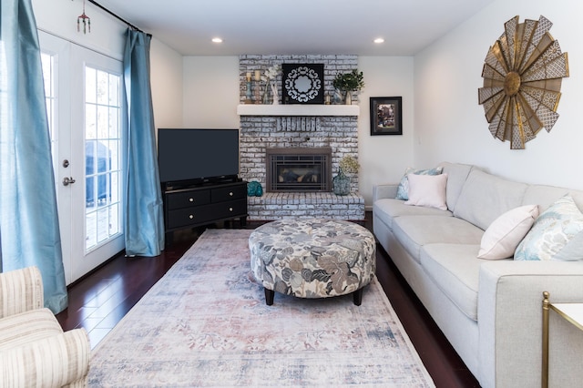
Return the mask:
<svg viewBox="0 0 583 388">
<path fill-rule="evenodd" d="M 557 122 L 568 58 L 548 33 L 552 23 L 544 16 L 524 23 L 515 16 L 504 26 L 486 55 L 478 100 L 492 136 L 509 140 L 511 149 L 524 149 L 541 128 L 550 132 Z"/>
</svg>

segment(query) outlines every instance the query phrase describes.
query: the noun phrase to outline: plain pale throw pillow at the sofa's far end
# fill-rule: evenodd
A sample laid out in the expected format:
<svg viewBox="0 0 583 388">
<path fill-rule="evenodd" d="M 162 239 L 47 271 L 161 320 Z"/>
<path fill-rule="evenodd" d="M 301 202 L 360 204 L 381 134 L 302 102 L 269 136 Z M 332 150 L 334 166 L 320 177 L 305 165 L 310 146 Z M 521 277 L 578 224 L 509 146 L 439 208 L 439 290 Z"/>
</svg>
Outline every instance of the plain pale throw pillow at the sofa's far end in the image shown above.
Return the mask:
<svg viewBox="0 0 583 388">
<path fill-rule="evenodd" d="M 405 205 L 447 210 L 447 205 L 445 205 L 446 173 L 441 175 L 408 174 L 407 179 L 409 179 L 409 199 L 404 201 Z"/>
</svg>

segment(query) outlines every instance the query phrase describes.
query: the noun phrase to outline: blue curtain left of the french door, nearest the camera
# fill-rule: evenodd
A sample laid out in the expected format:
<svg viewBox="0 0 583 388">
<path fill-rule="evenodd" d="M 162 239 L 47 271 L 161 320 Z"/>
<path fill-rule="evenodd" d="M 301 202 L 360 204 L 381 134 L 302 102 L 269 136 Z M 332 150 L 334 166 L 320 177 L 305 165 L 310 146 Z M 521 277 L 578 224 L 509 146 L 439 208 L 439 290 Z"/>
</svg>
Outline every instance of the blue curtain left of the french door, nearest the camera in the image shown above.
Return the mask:
<svg viewBox="0 0 583 388">
<path fill-rule="evenodd" d="M 0 5 L 2 270 L 36 265 L 45 305 L 67 305 L 45 89 L 31 0 Z"/>
</svg>

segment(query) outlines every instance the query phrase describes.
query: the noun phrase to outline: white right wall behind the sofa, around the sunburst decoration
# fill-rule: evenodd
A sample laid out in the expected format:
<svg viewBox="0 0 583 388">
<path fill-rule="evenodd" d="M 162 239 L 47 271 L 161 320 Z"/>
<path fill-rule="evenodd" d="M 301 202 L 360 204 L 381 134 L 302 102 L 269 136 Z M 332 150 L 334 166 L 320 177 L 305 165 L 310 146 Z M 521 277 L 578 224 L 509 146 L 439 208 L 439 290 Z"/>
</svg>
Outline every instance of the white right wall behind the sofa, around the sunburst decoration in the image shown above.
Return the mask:
<svg viewBox="0 0 583 388">
<path fill-rule="evenodd" d="M 576 0 L 498 0 L 414 57 L 414 164 L 442 160 L 476 164 L 509 179 L 583 189 L 583 23 L 573 10 Z M 568 52 L 570 77 L 563 79 L 557 124 L 542 130 L 524 150 L 493 138 L 484 108 L 477 103 L 482 66 L 489 46 L 504 32 L 507 20 L 520 23 L 544 15 L 551 36 Z"/>
</svg>

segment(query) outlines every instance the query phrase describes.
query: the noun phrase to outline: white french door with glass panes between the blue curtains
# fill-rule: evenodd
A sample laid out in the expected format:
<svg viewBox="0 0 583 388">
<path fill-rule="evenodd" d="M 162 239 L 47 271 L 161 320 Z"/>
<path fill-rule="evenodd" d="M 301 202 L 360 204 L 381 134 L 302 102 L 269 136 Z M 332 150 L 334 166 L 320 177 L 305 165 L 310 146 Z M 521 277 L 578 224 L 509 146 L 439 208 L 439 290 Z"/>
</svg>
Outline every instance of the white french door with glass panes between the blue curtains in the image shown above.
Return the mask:
<svg viewBox="0 0 583 388">
<path fill-rule="evenodd" d="M 66 283 L 124 249 L 122 63 L 39 32 Z"/>
</svg>

